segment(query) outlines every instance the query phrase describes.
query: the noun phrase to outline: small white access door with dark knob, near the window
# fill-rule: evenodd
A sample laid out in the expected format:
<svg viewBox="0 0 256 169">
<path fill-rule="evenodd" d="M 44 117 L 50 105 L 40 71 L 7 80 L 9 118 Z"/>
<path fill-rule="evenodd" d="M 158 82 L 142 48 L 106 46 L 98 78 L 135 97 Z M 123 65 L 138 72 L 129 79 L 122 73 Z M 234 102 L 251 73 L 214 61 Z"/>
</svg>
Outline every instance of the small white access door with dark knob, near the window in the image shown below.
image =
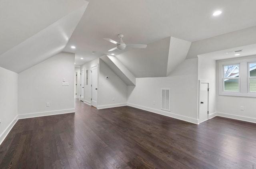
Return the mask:
<svg viewBox="0 0 256 169">
<path fill-rule="evenodd" d="M 208 120 L 209 83 L 200 81 L 199 85 L 199 123 L 201 123 Z"/>
</svg>

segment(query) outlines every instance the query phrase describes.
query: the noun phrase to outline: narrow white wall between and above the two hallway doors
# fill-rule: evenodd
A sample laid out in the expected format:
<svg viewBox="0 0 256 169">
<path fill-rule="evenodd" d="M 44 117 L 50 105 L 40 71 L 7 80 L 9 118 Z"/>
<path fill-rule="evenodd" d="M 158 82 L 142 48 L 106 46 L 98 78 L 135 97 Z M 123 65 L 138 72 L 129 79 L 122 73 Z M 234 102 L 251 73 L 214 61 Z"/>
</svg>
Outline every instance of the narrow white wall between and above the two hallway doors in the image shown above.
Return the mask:
<svg viewBox="0 0 256 169">
<path fill-rule="evenodd" d="M 99 58 L 94 59 L 93 61 L 90 61 L 82 66 L 80 66 L 80 71 L 84 69 L 84 102 L 87 104 L 91 104 L 91 98 L 92 98 L 92 67 L 97 66 L 99 64 Z M 86 70 L 88 70 L 88 85 L 86 85 Z"/>
</svg>

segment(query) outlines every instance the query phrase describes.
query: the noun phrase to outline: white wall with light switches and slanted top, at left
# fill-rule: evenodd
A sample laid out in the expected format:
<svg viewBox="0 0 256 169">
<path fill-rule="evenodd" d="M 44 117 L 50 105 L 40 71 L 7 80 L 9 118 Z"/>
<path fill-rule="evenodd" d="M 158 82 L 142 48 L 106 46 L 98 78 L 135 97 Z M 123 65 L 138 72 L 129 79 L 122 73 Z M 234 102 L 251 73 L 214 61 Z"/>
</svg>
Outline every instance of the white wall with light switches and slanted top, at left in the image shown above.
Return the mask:
<svg viewBox="0 0 256 169">
<path fill-rule="evenodd" d="M 62 86 L 63 79 L 69 86 Z M 19 118 L 74 112 L 74 54 L 62 52 L 30 67 L 19 73 L 18 84 Z"/>
</svg>

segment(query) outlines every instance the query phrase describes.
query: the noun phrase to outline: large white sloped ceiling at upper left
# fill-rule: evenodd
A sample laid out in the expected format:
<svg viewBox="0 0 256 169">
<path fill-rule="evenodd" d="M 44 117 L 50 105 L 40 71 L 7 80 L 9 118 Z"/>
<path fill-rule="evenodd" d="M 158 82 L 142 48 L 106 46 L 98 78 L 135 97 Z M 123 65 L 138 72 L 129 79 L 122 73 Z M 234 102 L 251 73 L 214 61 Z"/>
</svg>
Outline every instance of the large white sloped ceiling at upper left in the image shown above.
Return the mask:
<svg viewBox="0 0 256 169">
<path fill-rule="evenodd" d="M 62 51 L 88 2 L 1 1 L 0 66 L 19 73 Z"/>
</svg>

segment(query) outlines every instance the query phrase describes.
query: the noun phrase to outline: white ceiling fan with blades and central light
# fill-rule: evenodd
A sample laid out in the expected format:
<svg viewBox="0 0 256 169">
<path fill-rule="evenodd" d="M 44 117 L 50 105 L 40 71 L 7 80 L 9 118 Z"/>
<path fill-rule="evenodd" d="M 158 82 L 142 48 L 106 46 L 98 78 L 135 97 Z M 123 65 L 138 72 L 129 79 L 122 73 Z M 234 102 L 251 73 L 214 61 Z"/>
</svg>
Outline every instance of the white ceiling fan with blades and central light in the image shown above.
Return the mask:
<svg viewBox="0 0 256 169">
<path fill-rule="evenodd" d="M 116 44 L 116 47 L 114 47 L 114 48 L 112 48 L 108 51 L 114 51 L 116 49 L 124 50 L 126 47 L 135 47 L 135 48 L 146 48 L 147 47 L 147 45 L 143 45 L 143 44 L 125 44 L 124 41 L 122 40 L 122 38 L 124 37 L 123 34 L 118 34 L 118 37 L 120 38 L 119 42 L 116 42 L 116 41 L 114 41 L 112 39 L 109 39 L 109 38 L 104 38 L 105 40 Z"/>
</svg>

